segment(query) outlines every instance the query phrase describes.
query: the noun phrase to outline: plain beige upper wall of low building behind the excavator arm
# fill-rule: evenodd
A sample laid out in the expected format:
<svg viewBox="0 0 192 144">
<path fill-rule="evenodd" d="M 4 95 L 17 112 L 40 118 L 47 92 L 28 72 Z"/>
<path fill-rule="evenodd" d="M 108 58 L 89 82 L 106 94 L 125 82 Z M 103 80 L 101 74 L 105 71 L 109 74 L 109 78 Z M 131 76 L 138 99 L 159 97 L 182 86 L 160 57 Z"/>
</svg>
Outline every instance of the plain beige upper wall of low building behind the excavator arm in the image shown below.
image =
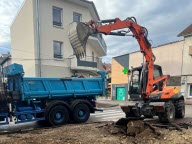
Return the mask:
<svg viewBox="0 0 192 144">
<path fill-rule="evenodd" d="M 184 41 L 182 40 L 152 49 L 156 56 L 155 64 L 162 67 L 164 75 L 181 76 L 183 44 Z M 142 57 L 141 52 L 131 53 L 129 55 L 129 68 L 141 66 Z"/>
</svg>

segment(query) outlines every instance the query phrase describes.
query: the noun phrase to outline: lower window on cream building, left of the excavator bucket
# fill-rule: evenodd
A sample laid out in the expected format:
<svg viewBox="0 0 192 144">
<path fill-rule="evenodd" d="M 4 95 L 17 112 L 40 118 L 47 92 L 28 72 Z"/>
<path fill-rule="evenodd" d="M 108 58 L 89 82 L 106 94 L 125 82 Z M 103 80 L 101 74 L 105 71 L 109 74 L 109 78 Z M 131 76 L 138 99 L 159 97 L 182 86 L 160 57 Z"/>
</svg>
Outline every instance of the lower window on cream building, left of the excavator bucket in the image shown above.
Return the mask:
<svg viewBox="0 0 192 144">
<path fill-rule="evenodd" d="M 63 55 L 62 55 L 62 46 L 63 43 L 59 42 L 59 41 L 53 41 L 53 51 L 54 51 L 54 58 L 59 58 L 62 59 Z"/>
</svg>

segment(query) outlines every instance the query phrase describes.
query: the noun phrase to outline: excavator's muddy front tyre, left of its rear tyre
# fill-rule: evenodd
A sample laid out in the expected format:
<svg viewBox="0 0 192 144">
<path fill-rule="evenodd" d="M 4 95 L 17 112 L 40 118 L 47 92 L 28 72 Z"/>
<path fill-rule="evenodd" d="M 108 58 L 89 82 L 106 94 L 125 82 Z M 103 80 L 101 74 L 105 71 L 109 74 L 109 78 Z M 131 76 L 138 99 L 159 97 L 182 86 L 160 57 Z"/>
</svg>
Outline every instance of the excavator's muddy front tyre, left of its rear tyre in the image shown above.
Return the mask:
<svg viewBox="0 0 192 144">
<path fill-rule="evenodd" d="M 159 113 L 159 121 L 162 123 L 171 123 L 175 120 L 175 106 L 172 102 L 166 102 L 165 112 Z"/>
</svg>

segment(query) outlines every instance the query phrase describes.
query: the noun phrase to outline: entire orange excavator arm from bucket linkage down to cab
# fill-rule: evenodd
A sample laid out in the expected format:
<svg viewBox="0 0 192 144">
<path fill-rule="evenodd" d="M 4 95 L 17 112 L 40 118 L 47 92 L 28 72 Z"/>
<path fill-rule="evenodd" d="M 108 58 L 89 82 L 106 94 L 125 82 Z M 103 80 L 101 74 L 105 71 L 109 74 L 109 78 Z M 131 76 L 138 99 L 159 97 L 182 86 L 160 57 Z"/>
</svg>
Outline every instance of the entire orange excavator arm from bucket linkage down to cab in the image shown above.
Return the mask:
<svg viewBox="0 0 192 144">
<path fill-rule="evenodd" d="M 158 83 L 162 80 L 164 80 L 164 82 L 167 81 L 167 76 L 163 76 L 160 79 L 154 80 L 153 74 L 155 56 L 152 52 L 151 44 L 147 39 L 148 31 L 146 28 L 138 25 L 134 17 L 127 18 L 123 21 L 119 18 L 102 20 L 99 22 L 89 21 L 88 23 L 79 23 L 77 25 L 77 28 L 79 28 L 79 30 L 83 30 L 82 32 L 78 33 L 79 37 L 81 37 L 81 43 L 86 43 L 85 41 L 87 41 L 88 37 L 92 34 L 133 36 L 134 38 L 136 38 L 140 46 L 140 52 L 145 57 L 145 64 L 143 64 L 144 72 L 142 74 L 142 79 L 140 82 L 141 95 L 144 99 L 147 99 L 149 97 L 149 95 L 153 91 L 153 86 L 155 83 Z M 128 31 L 122 30 L 125 28 L 128 28 Z M 130 31 L 132 32 L 132 35 L 129 34 Z M 87 34 L 84 34 L 85 32 L 87 32 Z M 83 34 L 84 36 L 82 38 Z M 74 38 L 74 36 L 72 38 Z M 164 83 L 164 86 L 165 85 L 166 84 Z"/>
</svg>

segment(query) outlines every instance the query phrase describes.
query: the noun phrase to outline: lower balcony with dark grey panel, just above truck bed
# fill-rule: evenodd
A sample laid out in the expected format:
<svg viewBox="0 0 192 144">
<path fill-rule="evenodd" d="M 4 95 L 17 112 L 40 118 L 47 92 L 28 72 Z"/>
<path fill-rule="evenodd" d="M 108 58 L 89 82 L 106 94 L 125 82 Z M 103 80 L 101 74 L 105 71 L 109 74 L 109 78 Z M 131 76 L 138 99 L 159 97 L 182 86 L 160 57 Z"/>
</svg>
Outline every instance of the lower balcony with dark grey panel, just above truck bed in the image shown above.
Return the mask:
<svg viewBox="0 0 192 144">
<path fill-rule="evenodd" d="M 97 71 L 105 71 L 100 58 L 89 56 L 82 59 L 77 59 L 76 57 L 72 58 L 71 70 L 87 71 L 92 75 L 97 75 Z"/>
</svg>

